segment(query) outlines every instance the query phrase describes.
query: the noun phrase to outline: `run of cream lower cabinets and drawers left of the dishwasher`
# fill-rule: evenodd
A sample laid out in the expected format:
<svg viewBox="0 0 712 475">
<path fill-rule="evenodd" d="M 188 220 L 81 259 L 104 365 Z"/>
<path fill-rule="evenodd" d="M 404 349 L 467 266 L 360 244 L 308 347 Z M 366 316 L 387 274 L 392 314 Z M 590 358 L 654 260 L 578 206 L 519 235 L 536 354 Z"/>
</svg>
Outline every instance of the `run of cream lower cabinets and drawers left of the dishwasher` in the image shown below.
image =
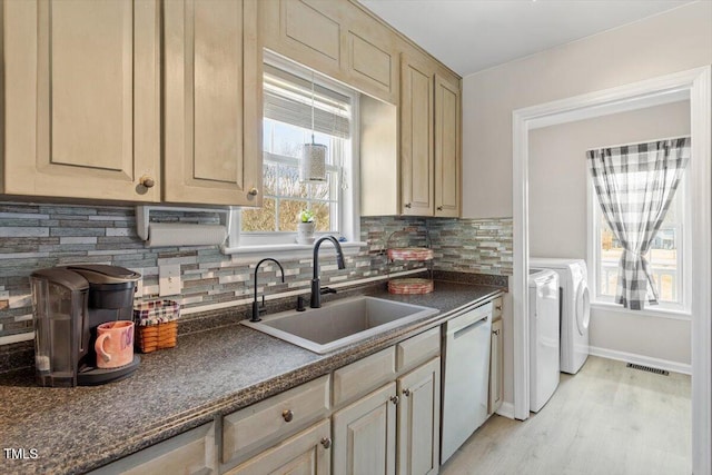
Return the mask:
<svg viewBox="0 0 712 475">
<path fill-rule="evenodd" d="M 437 474 L 439 352 L 431 328 L 92 474 Z"/>
</svg>

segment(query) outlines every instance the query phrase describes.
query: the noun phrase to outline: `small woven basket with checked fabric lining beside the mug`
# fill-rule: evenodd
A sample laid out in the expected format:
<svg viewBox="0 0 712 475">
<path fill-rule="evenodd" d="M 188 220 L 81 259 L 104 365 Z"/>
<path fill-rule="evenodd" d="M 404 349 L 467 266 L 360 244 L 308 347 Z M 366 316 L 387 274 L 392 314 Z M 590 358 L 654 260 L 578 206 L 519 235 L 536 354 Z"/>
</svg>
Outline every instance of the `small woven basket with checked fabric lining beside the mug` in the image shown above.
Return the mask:
<svg viewBox="0 0 712 475">
<path fill-rule="evenodd" d="M 178 339 L 180 304 L 174 300 L 154 300 L 134 307 L 136 346 L 141 353 L 172 348 Z"/>
</svg>

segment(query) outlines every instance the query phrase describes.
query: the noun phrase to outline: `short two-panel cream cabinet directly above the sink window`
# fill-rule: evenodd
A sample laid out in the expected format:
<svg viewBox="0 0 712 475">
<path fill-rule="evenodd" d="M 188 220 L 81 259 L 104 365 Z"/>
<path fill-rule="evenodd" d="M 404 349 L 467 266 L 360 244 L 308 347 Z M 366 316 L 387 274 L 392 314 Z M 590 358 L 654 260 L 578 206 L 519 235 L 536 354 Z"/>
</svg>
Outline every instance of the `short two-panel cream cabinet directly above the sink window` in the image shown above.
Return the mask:
<svg viewBox="0 0 712 475">
<path fill-rule="evenodd" d="M 397 103 L 396 34 L 348 0 L 260 2 L 265 47 L 369 96 Z"/>
</svg>

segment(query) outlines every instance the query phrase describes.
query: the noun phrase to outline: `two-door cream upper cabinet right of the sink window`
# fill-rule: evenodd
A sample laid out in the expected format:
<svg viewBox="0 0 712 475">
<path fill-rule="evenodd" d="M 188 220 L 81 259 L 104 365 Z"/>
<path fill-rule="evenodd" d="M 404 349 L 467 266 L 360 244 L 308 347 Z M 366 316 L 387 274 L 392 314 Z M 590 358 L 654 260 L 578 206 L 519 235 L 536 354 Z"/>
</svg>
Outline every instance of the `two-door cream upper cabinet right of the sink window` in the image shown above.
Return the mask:
<svg viewBox="0 0 712 475">
<path fill-rule="evenodd" d="M 400 214 L 461 212 L 461 83 L 416 51 L 400 61 Z"/>
</svg>

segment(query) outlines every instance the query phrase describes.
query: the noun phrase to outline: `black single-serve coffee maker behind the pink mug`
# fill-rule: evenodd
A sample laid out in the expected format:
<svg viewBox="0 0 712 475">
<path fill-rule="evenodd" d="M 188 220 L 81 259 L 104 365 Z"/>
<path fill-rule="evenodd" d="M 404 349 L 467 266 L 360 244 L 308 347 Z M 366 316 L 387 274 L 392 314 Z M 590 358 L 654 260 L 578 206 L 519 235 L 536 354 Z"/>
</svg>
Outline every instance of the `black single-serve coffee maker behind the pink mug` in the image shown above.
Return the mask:
<svg viewBox="0 0 712 475">
<path fill-rule="evenodd" d="M 134 318 L 140 274 L 123 267 L 75 265 L 32 273 L 34 367 L 41 386 L 93 386 L 131 375 L 138 355 L 118 368 L 97 368 L 97 327 Z"/>
</svg>

